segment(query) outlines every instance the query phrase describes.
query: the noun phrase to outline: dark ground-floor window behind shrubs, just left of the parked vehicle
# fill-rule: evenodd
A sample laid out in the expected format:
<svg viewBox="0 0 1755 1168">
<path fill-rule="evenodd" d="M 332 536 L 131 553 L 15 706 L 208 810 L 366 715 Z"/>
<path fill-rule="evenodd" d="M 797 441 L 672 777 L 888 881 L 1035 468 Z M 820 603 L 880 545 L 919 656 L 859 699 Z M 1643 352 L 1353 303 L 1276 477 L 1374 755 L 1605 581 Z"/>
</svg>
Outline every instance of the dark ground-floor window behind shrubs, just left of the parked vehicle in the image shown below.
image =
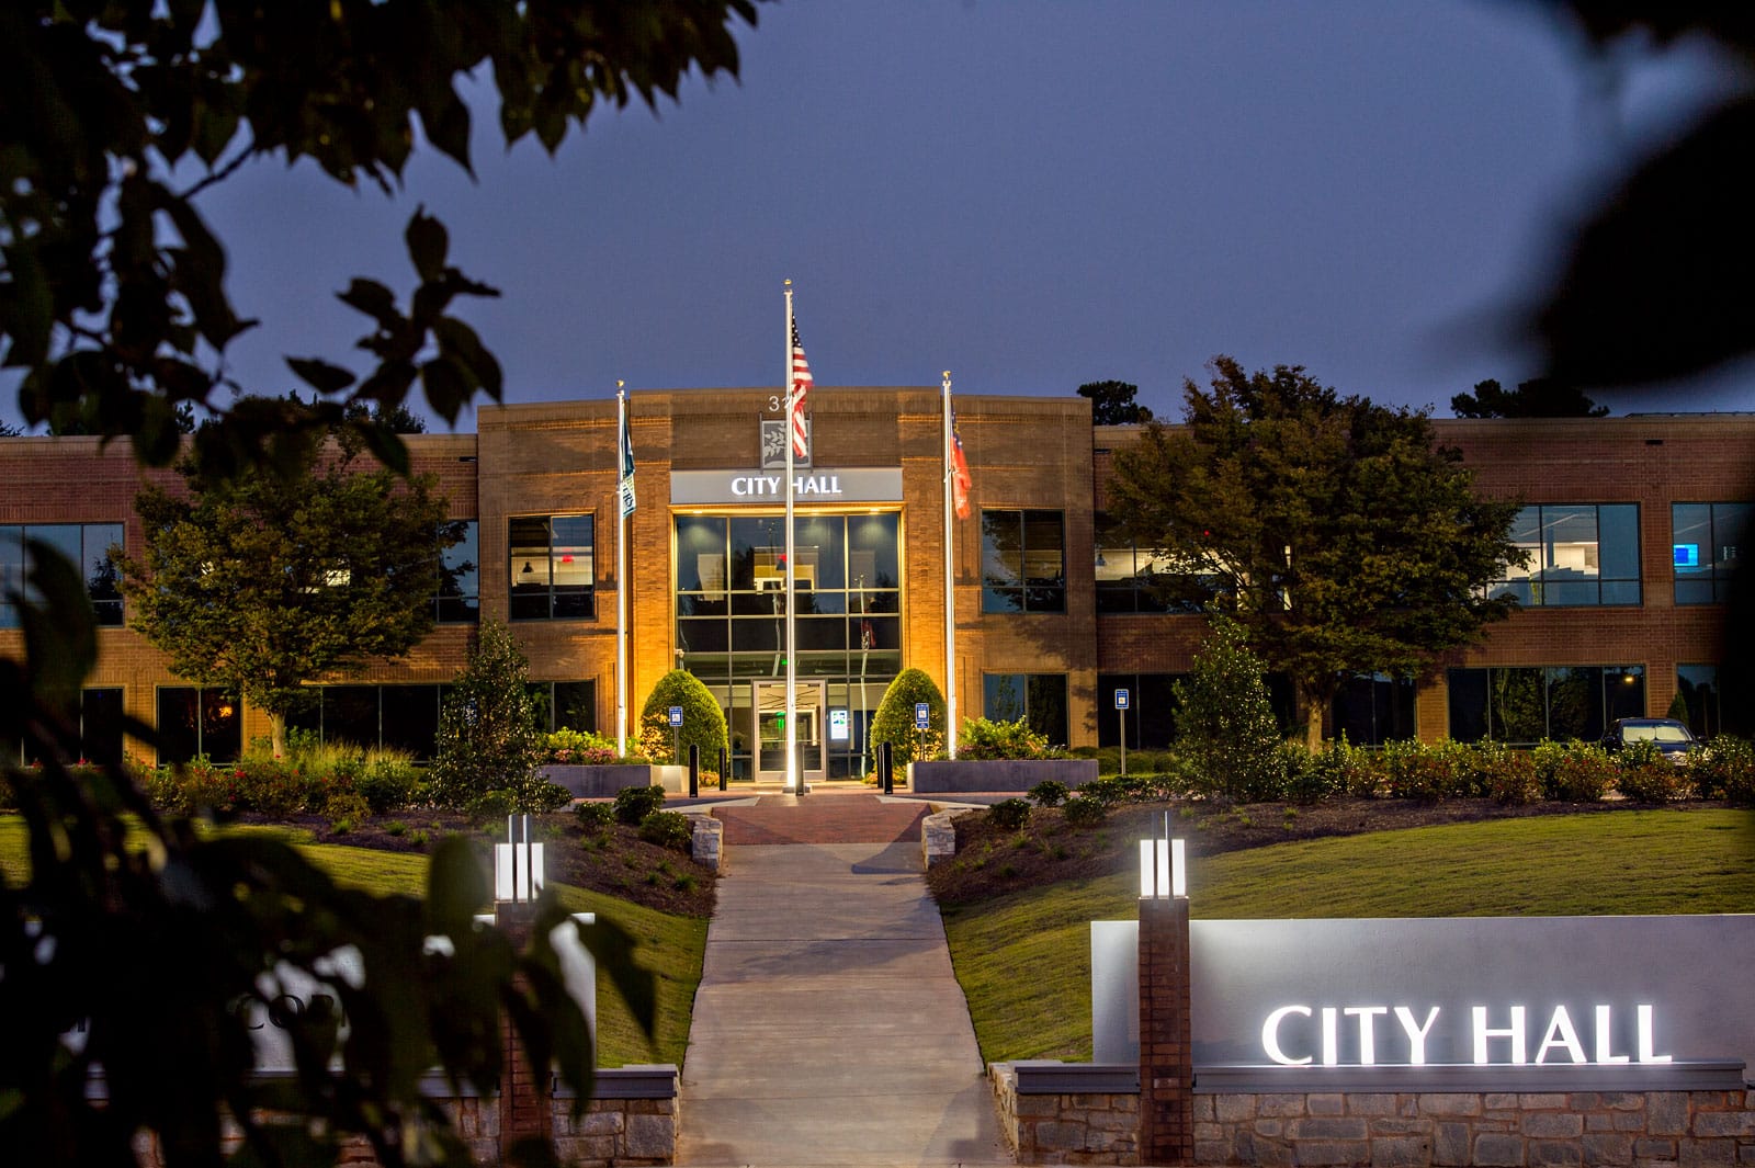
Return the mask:
<svg viewBox="0 0 1755 1168">
<path fill-rule="evenodd" d="M 1616 717 L 1641 717 L 1646 702 L 1643 665 L 1450 670 L 1448 689 L 1458 742 L 1592 742 Z"/>
</svg>

